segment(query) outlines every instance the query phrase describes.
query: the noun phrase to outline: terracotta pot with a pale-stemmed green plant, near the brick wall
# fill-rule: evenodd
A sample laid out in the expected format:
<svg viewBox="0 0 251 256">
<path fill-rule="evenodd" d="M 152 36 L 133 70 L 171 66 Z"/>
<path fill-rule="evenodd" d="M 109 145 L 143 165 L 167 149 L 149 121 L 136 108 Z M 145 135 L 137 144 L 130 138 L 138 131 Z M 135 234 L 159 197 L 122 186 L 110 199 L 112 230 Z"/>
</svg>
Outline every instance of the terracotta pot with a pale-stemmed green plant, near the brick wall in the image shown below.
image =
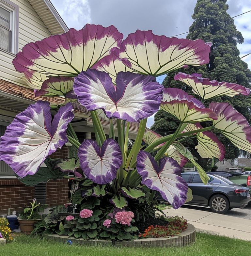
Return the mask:
<svg viewBox="0 0 251 256">
<path fill-rule="evenodd" d="M 18 223 L 21 232 L 30 234 L 34 229 L 34 223 L 41 220 L 39 210 L 41 209 L 40 203 L 37 203 L 36 198 L 33 199 L 31 207 L 25 208 L 24 211 L 18 216 Z"/>
</svg>

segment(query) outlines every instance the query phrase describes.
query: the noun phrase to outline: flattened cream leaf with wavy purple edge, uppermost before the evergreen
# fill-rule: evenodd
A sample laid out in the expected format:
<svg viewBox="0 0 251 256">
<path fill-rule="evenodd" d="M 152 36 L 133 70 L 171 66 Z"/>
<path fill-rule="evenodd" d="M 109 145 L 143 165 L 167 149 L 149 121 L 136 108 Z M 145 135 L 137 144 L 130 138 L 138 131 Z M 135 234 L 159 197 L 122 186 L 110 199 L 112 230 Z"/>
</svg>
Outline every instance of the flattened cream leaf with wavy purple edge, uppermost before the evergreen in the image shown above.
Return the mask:
<svg viewBox="0 0 251 256">
<path fill-rule="evenodd" d="M 174 76 L 174 79 L 186 83 L 203 100 L 209 100 L 223 95 L 233 97 L 237 94 L 243 94 L 245 96 L 250 94 L 249 88 L 234 83 L 210 81 L 208 78 L 202 78 L 201 74 L 197 73 L 191 75 L 178 73 Z"/>
</svg>

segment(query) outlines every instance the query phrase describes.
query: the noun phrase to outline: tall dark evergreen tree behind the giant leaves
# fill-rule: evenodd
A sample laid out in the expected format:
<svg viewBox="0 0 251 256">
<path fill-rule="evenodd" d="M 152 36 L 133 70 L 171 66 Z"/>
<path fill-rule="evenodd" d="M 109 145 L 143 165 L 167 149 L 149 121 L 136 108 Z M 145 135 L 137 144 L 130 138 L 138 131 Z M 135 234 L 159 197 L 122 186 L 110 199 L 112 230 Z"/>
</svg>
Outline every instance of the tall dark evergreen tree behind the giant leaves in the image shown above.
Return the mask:
<svg viewBox="0 0 251 256">
<path fill-rule="evenodd" d="M 237 31 L 234 20 L 227 13 L 228 5 L 226 2 L 227 0 L 197 0 L 192 15 L 194 23 L 189 28 L 190 32 L 187 38 L 212 42 L 210 62 L 207 65 L 189 67 L 169 73 L 162 83 L 164 87 L 176 87 L 193 94 L 190 87 L 180 81 L 173 80 L 176 73 L 184 72 L 187 74 L 201 73 L 202 77 L 208 77 L 210 80 L 227 81 L 251 88 L 251 71 L 248 69 L 247 63 L 239 59 L 240 52 L 237 48 L 237 43 L 243 43 L 244 39 L 241 32 Z M 193 96 L 197 97 L 195 94 Z M 211 101 L 223 101 L 233 105 L 251 123 L 251 96 L 237 95 L 233 98 L 223 96 Z M 208 106 L 211 101 L 207 101 L 205 105 Z M 165 111 L 159 110 L 154 117 L 154 124 L 151 129 L 165 136 L 173 133 L 177 126 L 178 120 L 174 120 L 174 117 Z M 226 159 L 239 156 L 240 150 L 226 137 L 219 136 L 219 139 L 226 147 Z M 184 142 L 190 149 L 196 143 L 196 140 L 192 138 Z M 193 153 L 198 158 L 199 164 L 208 169 L 208 159 L 201 158 L 196 151 Z"/>
</svg>

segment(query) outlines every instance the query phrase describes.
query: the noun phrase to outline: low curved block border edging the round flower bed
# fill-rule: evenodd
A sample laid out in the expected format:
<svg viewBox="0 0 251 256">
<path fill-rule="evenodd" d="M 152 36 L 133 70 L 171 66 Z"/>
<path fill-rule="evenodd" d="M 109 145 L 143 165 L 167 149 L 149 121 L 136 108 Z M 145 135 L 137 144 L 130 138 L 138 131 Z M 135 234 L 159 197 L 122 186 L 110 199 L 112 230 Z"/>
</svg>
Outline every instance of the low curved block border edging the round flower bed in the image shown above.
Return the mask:
<svg viewBox="0 0 251 256">
<path fill-rule="evenodd" d="M 114 245 L 116 247 L 121 246 L 129 246 L 129 247 L 181 247 L 190 245 L 195 242 L 195 227 L 192 224 L 187 224 L 188 228 L 181 232 L 177 236 L 169 236 L 166 238 L 143 238 L 143 239 L 135 239 L 133 242 L 131 241 L 106 241 L 106 240 L 84 240 L 83 238 L 69 238 L 66 235 L 43 235 L 44 237 L 61 243 L 66 243 L 68 240 L 72 242 L 72 244 L 78 245 Z"/>
</svg>

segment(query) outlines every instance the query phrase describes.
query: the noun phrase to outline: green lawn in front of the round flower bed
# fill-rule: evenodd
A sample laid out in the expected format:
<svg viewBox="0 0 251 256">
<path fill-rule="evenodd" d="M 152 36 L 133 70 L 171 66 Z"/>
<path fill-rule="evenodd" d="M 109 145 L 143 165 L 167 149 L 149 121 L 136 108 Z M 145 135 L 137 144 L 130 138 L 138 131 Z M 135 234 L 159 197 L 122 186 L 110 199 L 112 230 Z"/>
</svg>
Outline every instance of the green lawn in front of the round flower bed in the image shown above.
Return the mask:
<svg viewBox="0 0 251 256">
<path fill-rule="evenodd" d="M 196 243 L 182 248 L 114 248 L 55 243 L 40 237 L 20 235 L 0 246 L 1 256 L 250 256 L 251 242 L 197 233 Z"/>
</svg>

